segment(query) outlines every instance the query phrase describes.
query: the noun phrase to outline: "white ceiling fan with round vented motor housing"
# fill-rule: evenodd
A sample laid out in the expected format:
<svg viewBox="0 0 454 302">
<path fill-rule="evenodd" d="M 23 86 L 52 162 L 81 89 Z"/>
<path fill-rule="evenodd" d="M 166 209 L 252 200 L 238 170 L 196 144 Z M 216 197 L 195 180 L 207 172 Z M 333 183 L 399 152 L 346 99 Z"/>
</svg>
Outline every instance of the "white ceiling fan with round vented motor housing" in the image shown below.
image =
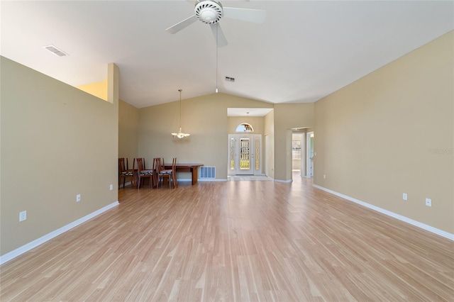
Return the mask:
<svg viewBox="0 0 454 302">
<path fill-rule="evenodd" d="M 227 45 L 227 40 L 226 36 L 222 32 L 221 26 L 218 24 L 223 16 L 241 21 L 263 23 L 265 21 L 266 11 L 260 9 L 224 7 L 220 1 L 216 0 L 196 0 L 194 15 L 184 19 L 174 26 L 170 26 L 170 28 L 167 28 L 166 31 L 167 33 L 178 33 L 179 30 L 182 30 L 199 20 L 210 25 L 218 47 L 223 47 Z"/>
</svg>

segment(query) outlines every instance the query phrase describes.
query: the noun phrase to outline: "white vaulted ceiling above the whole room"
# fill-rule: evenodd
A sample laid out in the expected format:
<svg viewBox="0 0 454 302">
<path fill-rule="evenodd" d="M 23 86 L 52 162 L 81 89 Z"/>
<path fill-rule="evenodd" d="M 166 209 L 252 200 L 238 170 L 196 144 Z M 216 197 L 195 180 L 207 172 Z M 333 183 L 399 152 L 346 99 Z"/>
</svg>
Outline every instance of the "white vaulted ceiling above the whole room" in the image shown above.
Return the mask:
<svg viewBox="0 0 454 302">
<path fill-rule="evenodd" d="M 265 23 L 222 18 L 218 89 L 270 103 L 313 102 L 454 29 L 453 1 L 222 1 Z M 216 43 L 190 1 L 1 1 L 1 55 L 74 86 L 120 68 L 138 108 L 214 93 Z M 52 55 L 53 44 L 67 57 Z M 224 78 L 236 81 L 226 82 Z"/>
</svg>

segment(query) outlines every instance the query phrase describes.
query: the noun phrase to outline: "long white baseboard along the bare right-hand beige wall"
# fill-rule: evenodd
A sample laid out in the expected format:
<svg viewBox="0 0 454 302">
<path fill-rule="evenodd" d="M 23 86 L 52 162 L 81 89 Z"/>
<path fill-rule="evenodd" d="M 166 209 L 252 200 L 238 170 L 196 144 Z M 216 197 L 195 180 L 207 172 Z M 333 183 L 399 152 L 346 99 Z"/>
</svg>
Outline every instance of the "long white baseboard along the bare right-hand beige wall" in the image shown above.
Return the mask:
<svg viewBox="0 0 454 302">
<path fill-rule="evenodd" d="M 317 189 L 321 189 L 321 190 L 326 191 L 328 193 L 331 193 L 333 195 L 336 195 L 336 196 L 339 196 L 341 198 L 344 198 L 344 199 L 346 199 L 348 201 L 353 201 L 354 203 L 358 203 L 361 206 L 365 206 L 366 208 L 370 208 L 370 209 L 372 209 L 374 211 L 377 211 L 377 212 L 380 212 L 380 213 L 382 213 L 384 215 L 387 215 L 387 216 L 390 216 L 392 218 L 396 218 L 396 219 L 399 219 L 401 221 L 404 221 L 404 223 L 409 223 L 409 224 L 414 225 L 414 226 L 416 226 L 418 228 L 422 228 L 423 230 L 427 230 L 428 232 L 434 233 L 436 235 L 440 235 L 442 237 L 445 237 L 445 238 L 448 238 L 449 240 L 453 240 L 454 241 L 454 234 L 445 232 L 444 230 L 440 230 L 438 228 L 433 228 L 431 225 L 426 225 L 424 223 L 420 223 L 419 221 L 416 221 L 416 220 L 410 219 L 408 217 L 399 215 L 397 213 L 385 210 L 384 208 L 379 208 L 378 206 L 374 206 L 374 205 L 372 205 L 370 203 L 366 203 L 364 201 L 360 201 L 359 199 L 356 199 L 356 198 L 353 198 L 353 197 L 350 197 L 350 196 L 346 196 L 344 194 L 338 193 L 338 192 L 330 190 L 330 189 L 323 188 L 323 186 L 318 186 L 316 184 L 313 184 L 313 186 L 316 187 Z"/>
</svg>

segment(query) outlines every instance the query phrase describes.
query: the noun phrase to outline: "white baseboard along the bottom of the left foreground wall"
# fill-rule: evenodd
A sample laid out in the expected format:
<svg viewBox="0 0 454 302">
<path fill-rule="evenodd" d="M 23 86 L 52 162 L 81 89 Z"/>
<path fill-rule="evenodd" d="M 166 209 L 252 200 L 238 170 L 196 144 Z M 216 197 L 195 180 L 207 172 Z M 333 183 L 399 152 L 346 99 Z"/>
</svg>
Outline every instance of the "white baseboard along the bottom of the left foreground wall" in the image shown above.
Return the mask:
<svg viewBox="0 0 454 302">
<path fill-rule="evenodd" d="M 115 201 L 114 203 L 111 203 L 107 206 L 104 206 L 104 208 L 100 208 L 97 211 L 94 211 L 93 213 L 88 214 L 87 216 L 84 216 L 82 218 L 79 218 L 72 223 L 63 226 L 62 228 L 59 228 L 57 230 L 54 230 L 43 237 L 40 237 L 36 240 L 33 240 L 32 242 L 28 242 L 26 245 L 23 245 L 21 247 L 18 247 L 16 250 L 13 250 L 9 253 L 6 253 L 5 255 L 0 256 L 0 265 L 4 264 L 6 262 L 9 262 L 9 260 L 18 257 L 19 255 L 22 255 L 25 252 L 28 252 L 29 250 L 32 250 L 35 247 L 38 247 L 38 245 L 42 245 L 44 242 L 47 242 L 51 240 L 54 237 L 57 237 L 58 235 L 61 235 L 62 233 L 65 233 L 67 230 L 71 230 L 72 228 L 76 227 L 77 225 L 80 225 L 87 220 L 90 220 L 94 218 L 95 216 L 98 216 L 99 214 L 109 210 L 110 208 L 114 208 L 114 206 L 118 206 L 118 201 Z"/>
</svg>

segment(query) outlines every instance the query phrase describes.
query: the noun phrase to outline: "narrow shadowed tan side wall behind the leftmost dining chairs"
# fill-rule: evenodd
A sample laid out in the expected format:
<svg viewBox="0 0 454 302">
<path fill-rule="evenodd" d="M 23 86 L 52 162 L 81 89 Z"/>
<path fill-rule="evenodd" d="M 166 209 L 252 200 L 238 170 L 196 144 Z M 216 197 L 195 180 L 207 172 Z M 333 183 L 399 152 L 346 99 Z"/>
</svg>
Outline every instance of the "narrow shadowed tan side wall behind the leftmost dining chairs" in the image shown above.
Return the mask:
<svg viewBox="0 0 454 302">
<path fill-rule="evenodd" d="M 138 157 L 139 110 L 119 101 L 118 103 L 118 157 L 128 159 L 129 169 L 134 158 Z"/>
</svg>

